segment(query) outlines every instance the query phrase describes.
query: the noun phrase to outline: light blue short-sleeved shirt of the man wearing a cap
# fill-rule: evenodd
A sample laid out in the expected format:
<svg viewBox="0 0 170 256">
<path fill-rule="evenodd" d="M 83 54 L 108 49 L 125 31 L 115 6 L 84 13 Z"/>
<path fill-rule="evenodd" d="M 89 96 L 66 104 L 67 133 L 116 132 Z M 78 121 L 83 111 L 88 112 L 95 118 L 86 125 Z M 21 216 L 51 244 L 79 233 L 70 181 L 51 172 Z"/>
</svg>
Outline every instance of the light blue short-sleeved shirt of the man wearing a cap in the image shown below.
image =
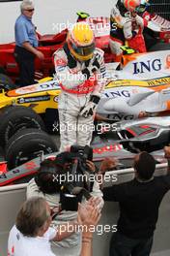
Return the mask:
<svg viewBox="0 0 170 256">
<path fill-rule="evenodd" d="M 38 47 L 38 39 L 36 36 L 35 26 L 31 18 L 27 16 L 18 16 L 14 24 L 15 44 L 22 47 L 23 42 L 29 42 L 32 47 Z"/>
</svg>

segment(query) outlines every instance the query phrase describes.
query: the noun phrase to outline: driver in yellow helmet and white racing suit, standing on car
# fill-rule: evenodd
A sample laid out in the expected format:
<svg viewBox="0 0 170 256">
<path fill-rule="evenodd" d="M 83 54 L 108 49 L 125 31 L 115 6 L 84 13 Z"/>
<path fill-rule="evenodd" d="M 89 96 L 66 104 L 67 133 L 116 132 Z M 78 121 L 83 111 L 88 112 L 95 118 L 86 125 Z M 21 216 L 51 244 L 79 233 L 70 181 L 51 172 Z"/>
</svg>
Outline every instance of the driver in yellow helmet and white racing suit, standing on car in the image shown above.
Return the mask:
<svg viewBox="0 0 170 256">
<path fill-rule="evenodd" d="M 61 86 L 60 151 L 72 144 L 90 144 L 95 110 L 105 85 L 105 65 L 88 23 L 74 24 L 64 48 L 55 51 L 54 64 Z"/>
</svg>

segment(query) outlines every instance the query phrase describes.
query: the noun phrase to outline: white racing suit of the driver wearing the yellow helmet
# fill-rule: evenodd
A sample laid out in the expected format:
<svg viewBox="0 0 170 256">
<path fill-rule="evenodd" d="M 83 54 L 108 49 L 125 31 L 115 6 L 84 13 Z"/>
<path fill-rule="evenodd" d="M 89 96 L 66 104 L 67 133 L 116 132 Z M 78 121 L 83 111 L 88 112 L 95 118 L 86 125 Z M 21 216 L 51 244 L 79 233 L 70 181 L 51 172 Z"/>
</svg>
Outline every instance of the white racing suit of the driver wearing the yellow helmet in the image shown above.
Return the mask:
<svg viewBox="0 0 170 256">
<path fill-rule="evenodd" d="M 99 70 L 92 80 L 82 74 L 89 67 L 94 58 L 98 58 Z M 101 95 L 105 85 L 105 65 L 103 51 L 96 48 L 90 61 L 79 62 L 75 60 L 67 44 L 62 49 L 54 52 L 54 65 L 56 79 L 61 85 L 58 110 L 60 119 L 60 151 L 65 151 L 72 144 L 86 145 L 92 140 L 94 116 L 84 117 L 80 115 L 82 108 L 90 104 L 92 95 Z"/>
</svg>

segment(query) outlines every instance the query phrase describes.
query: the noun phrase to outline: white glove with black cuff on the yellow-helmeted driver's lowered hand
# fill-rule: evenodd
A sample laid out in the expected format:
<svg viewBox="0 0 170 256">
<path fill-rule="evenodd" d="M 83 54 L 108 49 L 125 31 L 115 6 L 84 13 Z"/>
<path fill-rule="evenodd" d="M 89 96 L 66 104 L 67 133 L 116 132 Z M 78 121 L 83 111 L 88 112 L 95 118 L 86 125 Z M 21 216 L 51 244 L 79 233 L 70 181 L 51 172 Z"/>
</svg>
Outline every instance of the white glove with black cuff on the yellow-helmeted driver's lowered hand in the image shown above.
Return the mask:
<svg viewBox="0 0 170 256">
<path fill-rule="evenodd" d="M 97 105 L 99 104 L 99 99 L 99 96 L 92 95 L 88 105 L 86 107 L 83 107 L 79 114 L 84 116 L 85 118 L 92 116 Z"/>
</svg>

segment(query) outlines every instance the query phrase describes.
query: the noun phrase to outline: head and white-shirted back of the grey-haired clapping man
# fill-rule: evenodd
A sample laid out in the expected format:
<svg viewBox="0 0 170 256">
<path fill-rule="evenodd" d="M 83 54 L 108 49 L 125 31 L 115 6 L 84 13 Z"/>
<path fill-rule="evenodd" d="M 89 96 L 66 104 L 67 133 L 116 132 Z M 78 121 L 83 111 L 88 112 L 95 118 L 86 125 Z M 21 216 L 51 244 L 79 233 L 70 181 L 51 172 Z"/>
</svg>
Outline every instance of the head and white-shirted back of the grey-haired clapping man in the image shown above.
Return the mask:
<svg viewBox="0 0 170 256">
<path fill-rule="evenodd" d="M 50 208 L 42 198 L 33 197 L 20 208 L 8 241 L 9 256 L 54 256 L 50 240 L 57 231 L 49 228 Z"/>
</svg>

